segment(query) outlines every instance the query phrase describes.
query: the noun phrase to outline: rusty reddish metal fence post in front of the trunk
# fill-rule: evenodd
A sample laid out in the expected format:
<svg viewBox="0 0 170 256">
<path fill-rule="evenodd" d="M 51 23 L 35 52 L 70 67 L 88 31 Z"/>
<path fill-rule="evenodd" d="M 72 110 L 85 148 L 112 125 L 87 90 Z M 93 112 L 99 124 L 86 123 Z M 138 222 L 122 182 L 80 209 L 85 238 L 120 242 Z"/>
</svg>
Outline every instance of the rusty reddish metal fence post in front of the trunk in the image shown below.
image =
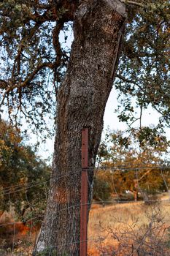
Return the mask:
<svg viewBox="0 0 170 256">
<path fill-rule="evenodd" d="M 80 256 L 88 251 L 88 128 L 82 129 L 82 180 L 80 209 Z"/>
</svg>

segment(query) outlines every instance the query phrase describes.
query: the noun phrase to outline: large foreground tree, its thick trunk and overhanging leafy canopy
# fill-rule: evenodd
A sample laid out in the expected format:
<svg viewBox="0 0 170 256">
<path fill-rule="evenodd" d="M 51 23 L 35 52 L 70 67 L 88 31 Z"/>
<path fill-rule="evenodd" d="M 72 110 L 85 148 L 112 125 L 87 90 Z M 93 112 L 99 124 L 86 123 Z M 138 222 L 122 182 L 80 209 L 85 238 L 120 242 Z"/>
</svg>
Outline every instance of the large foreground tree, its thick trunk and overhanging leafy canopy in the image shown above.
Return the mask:
<svg viewBox="0 0 170 256">
<path fill-rule="evenodd" d="M 163 120 L 169 120 L 169 1 L 164 3 L 1 1 L 1 105 L 7 106 L 11 118 L 20 112 L 26 119 L 32 117 L 31 123 L 42 129 L 39 125 L 47 121 L 45 113 L 55 111 L 53 94 L 58 100 L 53 179 L 35 252 L 57 246 L 58 253 L 79 253 L 80 208 L 69 206 L 80 204 L 81 129 L 90 129 L 89 167 L 93 167 L 115 75 L 124 79 L 123 85 L 117 83 L 117 88 L 125 94 L 131 92 L 123 103 L 124 110 L 134 113 L 130 99 L 135 95 L 140 116 L 152 102 L 163 113 Z M 69 21 L 74 26 L 70 58 L 59 40 Z M 123 57 L 117 69 L 122 46 Z M 120 120 L 134 122 L 124 112 L 120 113 Z M 61 181 L 60 176 L 67 177 Z M 92 182 L 93 171 L 89 173 L 89 184 Z M 61 208 L 67 209 L 62 215 L 58 214 Z"/>
</svg>

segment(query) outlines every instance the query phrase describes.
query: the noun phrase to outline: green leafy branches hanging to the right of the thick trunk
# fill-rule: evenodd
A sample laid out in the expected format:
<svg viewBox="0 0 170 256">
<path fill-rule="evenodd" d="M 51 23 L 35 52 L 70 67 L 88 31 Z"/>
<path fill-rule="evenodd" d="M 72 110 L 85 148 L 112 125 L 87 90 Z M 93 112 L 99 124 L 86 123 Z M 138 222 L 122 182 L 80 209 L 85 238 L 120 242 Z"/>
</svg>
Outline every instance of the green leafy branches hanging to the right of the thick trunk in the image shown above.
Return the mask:
<svg viewBox="0 0 170 256">
<path fill-rule="evenodd" d="M 142 114 L 144 108 L 152 105 L 162 116 L 159 122 L 167 127 L 170 118 L 170 6 L 169 1 L 161 0 L 146 1 L 144 4 L 146 9 L 131 8 L 131 23 L 125 29 L 123 55 L 115 81 L 120 92 L 118 98 L 121 99 L 118 117 L 131 126 L 140 118 L 131 115 L 132 108 Z"/>
</svg>

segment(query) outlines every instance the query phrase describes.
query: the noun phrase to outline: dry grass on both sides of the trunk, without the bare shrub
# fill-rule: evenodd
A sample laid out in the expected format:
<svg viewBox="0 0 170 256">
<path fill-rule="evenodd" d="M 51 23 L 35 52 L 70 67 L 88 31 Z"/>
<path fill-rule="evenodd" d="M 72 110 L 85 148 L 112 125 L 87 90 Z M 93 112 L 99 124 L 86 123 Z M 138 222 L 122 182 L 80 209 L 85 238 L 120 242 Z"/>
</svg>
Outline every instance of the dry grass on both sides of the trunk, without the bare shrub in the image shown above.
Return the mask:
<svg viewBox="0 0 170 256">
<path fill-rule="evenodd" d="M 116 256 L 145 256 L 145 254 L 129 254 L 126 251 L 121 251 L 118 253 L 118 247 L 120 246 L 120 242 L 117 240 L 117 238 L 114 238 L 114 232 L 117 232 L 117 237 L 120 238 L 120 233 L 122 229 L 127 229 L 131 227 L 131 233 L 133 235 L 128 233 L 128 236 L 124 239 L 123 243 L 129 243 L 133 244 L 133 239 L 136 239 L 136 233 L 139 235 L 139 231 L 142 230 L 144 226 L 147 227 L 149 220 L 148 220 L 148 213 L 150 213 L 150 210 L 154 208 L 155 206 L 148 206 L 145 203 L 142 202 L 136 202 L 136 203 L 116 203 L 112 206 L 101 206 L 98 204 L 95 204 L 92 206 L 90 210 L 90 218 L 88 223 L 88 255 L 89 256 L 109 256 L 109 255 L 116 255 Z M 160 225 L 159 223 L 156 223 L 158 225 L 158 228 L 161 231 L 161 233 L 158 234 L 158 236 L 162 236 L 164 230 L 166 227 L 170 226 L 170 203 L 169 201 L 162 200 L 161 203 L 159 203 L 159 207 L 156 206 L 155 208 L 161 209 L 161 216 L 164 217 L 163 219 L 163 225 Z M 10 218 L 10 219 L 9 219 Z M 1 222 L 10 222 L 13 221 L 12 217 L 5 216 L 4 219 L 1 218 Z M 162 219 L 161 219 L 162 220 Z M 8 232 L 7 232 L 8 231 Z M 32 238 L 31 240 L 35 240 L 36 236 L 36 230 L 32 230 Z M 3 230 L 1 229 L 1 232 L 3 233 Z M 0 233 L 1 233 L 0 232 Z M 6 232 L 6 238 L 7 241 L 12 241 L 13 237 L 13 225 L 8 227 L 8 230 L 4 230 L 4 233 Z M 16 240 L 27 240 L 30 230 L 25 225 L 15 225 L 15 238 Z M 128 230 L 129 232 L 129 230 Z M 2 234 L 3 235 L 3 234 Z M 164 239 L 164 238 L 163 238 Z M 28 239 L 29 240 L 29 239 Z M 169 239 L 170 241 L 170 239 Z M 24 244 L 24 243 L 23 243 Z M 25 250 L 25 246 L 23 244 L 20 244 L 18 247 L 18 252 L 20 249 Z M 169 242 L 170 244 L 170 242 Z M 0 246 L 1 248 L 1 246 Z M 29 255 L 29 252 L 31 252 L 31 246 L 26 245 L 26 254 L 24 252 L 21 252 L 21 254 L 17 253 L 16 255 Z M 114 248 L 114 249 L 113 249 Z M 117 250 L 117 252 L 114 254 L 114 252 Z M 112 252 L 112 253 L 111 253 Z M 1 252 L 0 252 L 1 255 Z M 12 255 L 12 254 L 7 254 Z M 31 255 L 31 254 L 30 254 Z M 149 255 L 149 254 L 147 254 Z M 160 254 L 151 254 L 153 256 L 157 256 Z M 162 254 L 161 256 L 166 256 L 169 254 Z"/>
</svg>

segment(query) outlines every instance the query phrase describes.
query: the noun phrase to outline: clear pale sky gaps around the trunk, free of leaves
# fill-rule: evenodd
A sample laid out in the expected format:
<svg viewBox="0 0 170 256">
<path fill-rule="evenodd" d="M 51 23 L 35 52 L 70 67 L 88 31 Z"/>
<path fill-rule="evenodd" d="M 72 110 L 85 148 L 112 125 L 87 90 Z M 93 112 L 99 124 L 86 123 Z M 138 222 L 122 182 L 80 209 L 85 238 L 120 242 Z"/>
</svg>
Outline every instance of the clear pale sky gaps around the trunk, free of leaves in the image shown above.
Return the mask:
<svg viewBox="0 0 170 256">
<path fill-rule="evenodd" d="M 68 36 L 66 42 L 65 37 Z M 72 23 L 69 24 L 68 30 L 61 31 L 60 39 L 62 43 L 63 48 L 71 48 L 72 41 L 74 39 L 73 31 L 72 31 Z M 115 113 L 115 109 L 117 108 L 118 102 L 117 102 L 117 91 L 115 91 L 114 87 L 109 95 L 109 99 L 107 101 L 106 110 L 104 113 L 104 131 L 106 129 L 110 130 L 117 130 L 127 129 L 127 126 L 125 123 L 120 122 L 117 118 L 117 113 Z M 150 126 L 150 125 L 156 125 L 158 124 L 158 118 L 159 115 L 156 112 L 156 110 L 153 110 L 151 107 L 149 107 L 147 110 L 144 110 L 142 115 L 142 126 Z M 139 123 L 135 123 L 134 126 L 139 127 Z M 23 124 L 23 127 L 26 127 Z M 25 129 L 25 128 L 24 128 Z M 167 130 L 166 135 L 169 137 L 169 130 Z M 103 132 L 103 138 L 104 138 L 104 132 Z M 30 134 L 30 140 L 28 141 L 29 144 L 34 145 L 36 143 L 36 135 Z M 54 144 L 54 138 L 47 139 L 46 143 L 41 144 L 39 146 L 38 154 L 43 159 L 47 159 L 49 156 L 53 155 L 53 144 Z"/>
</svg>

